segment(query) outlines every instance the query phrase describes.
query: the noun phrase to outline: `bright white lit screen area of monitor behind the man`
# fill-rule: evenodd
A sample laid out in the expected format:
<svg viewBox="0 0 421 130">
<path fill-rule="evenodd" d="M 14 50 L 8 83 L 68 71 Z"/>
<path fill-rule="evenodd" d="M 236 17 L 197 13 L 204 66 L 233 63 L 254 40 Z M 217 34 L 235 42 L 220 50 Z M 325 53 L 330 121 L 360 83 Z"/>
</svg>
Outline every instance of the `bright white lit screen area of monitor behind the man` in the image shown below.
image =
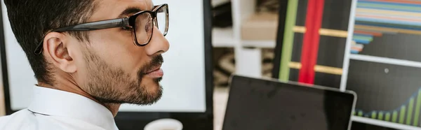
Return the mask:
<svg viewBox="0 0 421 130">
<path fill-rule="evenodd" d="M 123 112 L 180 112 L 204 113 L 206 111 L 205 36 L 203 1 L 153 0 L 155 5 L 168 3 L 170 24 L 168 39 L 171 47 L 163 54 L 164 76 L 161 81 L 163 96 L 152 106 L 124 104 Z M 189 3 L 189 8 L 186 4 Z M 32 88 L 37 83 L 25 53 L 13 35 L 4 2 L 1 2 L 5 48 L 1 55 L 7 66 L 8 96 L 13 111 L 27 108 L 32 101 Z M 186 15 L 188 14 L 188 15 Z M 2 39 L 3 40 L 3 39 Z M 133 46 L 133 48 L 136 48 Z M 7 101 L 6 101 L 7 102 Z M 9 113 L 10 114 L 10 113 Z"/>
</svg>

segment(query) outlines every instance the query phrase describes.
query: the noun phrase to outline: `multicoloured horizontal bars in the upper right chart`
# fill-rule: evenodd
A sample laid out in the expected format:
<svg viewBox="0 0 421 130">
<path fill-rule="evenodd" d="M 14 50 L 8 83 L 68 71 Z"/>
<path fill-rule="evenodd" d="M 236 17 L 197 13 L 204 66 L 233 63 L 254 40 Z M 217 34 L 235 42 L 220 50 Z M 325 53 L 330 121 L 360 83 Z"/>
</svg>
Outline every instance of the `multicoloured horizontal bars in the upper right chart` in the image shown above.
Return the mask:
<svg viewBox="0 0 421 130">
<path fill-rule="evenodd" d="M 421 1 L 359 0 L 355 20 L 354 54 L 385 33 L 421 35 Z"/>
</svg>

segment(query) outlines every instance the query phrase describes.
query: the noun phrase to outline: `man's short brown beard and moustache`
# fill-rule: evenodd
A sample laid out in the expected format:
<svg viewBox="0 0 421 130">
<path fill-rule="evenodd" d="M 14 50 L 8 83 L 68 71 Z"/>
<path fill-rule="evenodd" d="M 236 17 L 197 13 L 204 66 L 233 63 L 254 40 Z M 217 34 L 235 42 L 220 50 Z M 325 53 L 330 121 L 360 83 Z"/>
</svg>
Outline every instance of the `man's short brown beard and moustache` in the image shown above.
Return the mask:
<svg viewBox="0 0 421 130">
<path fill-rule="evenodd" d="M 142 78 L 147 71 L 163 63 L 163 57 L 158 55 L 152 58 L 152 61 L 138 68 L 138 75 L 135 80 L 129 73 L 122 68 L 107 64 L 97 55 L 91 52 L 85 52 L 85 59 L 88 80 L 86 80 L 86 92 L 91 94 L 101 103 L 131 103 L 137 105 L 152 105 L 161 99 L 162 87 L 159 82 L 162 78 L 155 78 L 153 82 L 159 88 L 149 88 L 142 86 Z M 134 68 L 135 69 L 135 68 Z M 150 89 L 154 90 L 152 92 Z"/>
</svg>

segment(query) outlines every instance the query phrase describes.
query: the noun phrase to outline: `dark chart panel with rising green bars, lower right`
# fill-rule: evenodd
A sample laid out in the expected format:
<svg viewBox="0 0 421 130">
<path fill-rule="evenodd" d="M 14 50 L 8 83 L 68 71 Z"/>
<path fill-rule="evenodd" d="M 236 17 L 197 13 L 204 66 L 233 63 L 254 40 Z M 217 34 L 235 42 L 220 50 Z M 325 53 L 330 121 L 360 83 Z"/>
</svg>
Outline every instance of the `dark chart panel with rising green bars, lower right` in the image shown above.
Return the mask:
<svg viewBox="0 0 421 130">
<path fill-rule="evenodd" d="M 421 68 L 352 60 L 347 89 L 354 115 L 421 127 Z"/>
</svg>

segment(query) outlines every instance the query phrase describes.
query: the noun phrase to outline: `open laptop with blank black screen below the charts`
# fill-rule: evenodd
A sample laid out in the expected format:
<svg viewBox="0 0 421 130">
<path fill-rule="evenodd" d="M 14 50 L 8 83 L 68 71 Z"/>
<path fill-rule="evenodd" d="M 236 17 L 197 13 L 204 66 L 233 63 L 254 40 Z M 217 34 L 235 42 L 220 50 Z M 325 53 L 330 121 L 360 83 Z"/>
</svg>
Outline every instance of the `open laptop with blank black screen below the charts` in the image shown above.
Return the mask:
<svg viewBox="0 0 421 130">
<path fill-rule="evenodd" d="M 352 91 L 232 75 L 222 130 L 348 130 Z"/>
</svg>

